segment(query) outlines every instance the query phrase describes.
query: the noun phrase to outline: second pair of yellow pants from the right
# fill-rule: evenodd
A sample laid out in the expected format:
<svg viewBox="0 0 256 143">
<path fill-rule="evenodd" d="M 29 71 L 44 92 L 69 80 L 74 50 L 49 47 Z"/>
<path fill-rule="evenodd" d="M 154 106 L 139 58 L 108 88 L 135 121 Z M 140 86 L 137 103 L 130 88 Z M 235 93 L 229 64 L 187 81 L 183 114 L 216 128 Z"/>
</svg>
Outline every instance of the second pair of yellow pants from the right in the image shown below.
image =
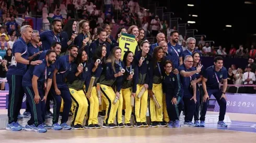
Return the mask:
<svg viewBox="0 0 256 143">
<path fill-rule="evenodd" d="M 137 85 L 135 103 L 134 103 L 134 111 L 135 111 L 135 122 L 146 122 L 146 112 L 147 112 L 147 97 L 148 90 L 144 92 L 141 98 L 137 98 L 138 93 L 144 87 L 144 84 Z"/>
</svg>

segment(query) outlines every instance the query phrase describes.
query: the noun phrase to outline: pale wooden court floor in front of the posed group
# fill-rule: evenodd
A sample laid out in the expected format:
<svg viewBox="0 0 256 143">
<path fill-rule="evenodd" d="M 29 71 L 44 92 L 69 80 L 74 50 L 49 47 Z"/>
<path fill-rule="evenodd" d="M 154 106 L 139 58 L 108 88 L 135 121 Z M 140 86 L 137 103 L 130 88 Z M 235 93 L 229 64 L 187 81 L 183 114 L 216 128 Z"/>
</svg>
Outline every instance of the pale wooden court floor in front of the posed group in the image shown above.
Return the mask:
<svg viewBox="0 0 256 143">
<path fill-rule="evenodd" d="M 0 110 L 1 113 L 1 110 Z M 2 111 L 2 113 L 5 113 Z M 22 113 L 22 112 L 21 112 Z M 216 112 L 210 112 L 216 113 Z M 256 115 L 227 113 L 231 120 L 256 122 Z M 36 133 L 0 130 L 0 142 L 256 142 L 256 133 L 211 129 L 202 127 L 181 128 L 101 128 Z"/>
</svg>

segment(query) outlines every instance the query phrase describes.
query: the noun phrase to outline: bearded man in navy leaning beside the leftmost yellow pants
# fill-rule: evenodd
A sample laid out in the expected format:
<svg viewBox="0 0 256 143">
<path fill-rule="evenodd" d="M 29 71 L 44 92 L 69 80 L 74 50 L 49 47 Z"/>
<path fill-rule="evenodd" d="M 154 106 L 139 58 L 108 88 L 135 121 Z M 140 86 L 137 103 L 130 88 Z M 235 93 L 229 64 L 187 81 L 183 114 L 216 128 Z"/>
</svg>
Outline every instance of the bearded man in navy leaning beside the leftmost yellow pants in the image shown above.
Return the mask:
<svg viewBox="0 0 256 143">
<path fill-rule="evenodd" d="M 54 98 L 54 109 L 53 109 L 53 127 L 57 126 L 59 122 L 59 113 L 61 107 L 61 97 L 64 101 L 64 108 L 61 119 L 61 126 L 64 129 L 71 129 L 66 122 L 68 121 L 69 110 L 71 109 L 71 94 L 65 83 L 65 78 L 68 71 L 72 71 L 72 63 L 78 54 L 78 47 L 76 45 L 68 46 L 68 55 L 62 56 L 57 59 L 55 63 L 55 70 L 53 73 L 53 86 L 51 92 Z"/>
</svg>

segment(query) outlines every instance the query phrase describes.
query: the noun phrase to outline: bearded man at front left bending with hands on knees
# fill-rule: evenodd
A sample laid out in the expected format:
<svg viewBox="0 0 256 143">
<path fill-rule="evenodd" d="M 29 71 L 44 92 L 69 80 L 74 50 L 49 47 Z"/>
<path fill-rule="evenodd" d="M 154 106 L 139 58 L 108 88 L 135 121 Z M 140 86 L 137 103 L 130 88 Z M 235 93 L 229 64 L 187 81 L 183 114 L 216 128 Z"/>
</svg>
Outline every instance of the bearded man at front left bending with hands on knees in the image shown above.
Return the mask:
<svg viewBox="0 0 256 143">
<path fill-rule="evenodd" d="M 45 133 L 45 128 L 51 128 L 44 124 L 45 101 L 52 85 L 52 76 L 56 60 L 54 50 L 46 53 L 43 63 L 32 66 L 26 72 L 22 80 L 22 86 L 27 95 L 27 100 L 31 108 L 31 118 L 25 126 L 26 131 L 36 131 Z"/>
</svg>

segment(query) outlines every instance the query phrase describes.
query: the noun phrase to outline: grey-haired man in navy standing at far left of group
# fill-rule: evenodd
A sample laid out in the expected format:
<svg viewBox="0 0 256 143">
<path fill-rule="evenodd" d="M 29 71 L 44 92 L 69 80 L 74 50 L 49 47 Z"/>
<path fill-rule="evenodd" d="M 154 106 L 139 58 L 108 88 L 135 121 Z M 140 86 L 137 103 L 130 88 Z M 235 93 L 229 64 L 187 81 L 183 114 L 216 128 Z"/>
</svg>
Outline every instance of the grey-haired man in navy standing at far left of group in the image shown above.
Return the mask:
<svg viewBox="0 0 256 143">
<path fill-rule="evenodd" d="M 8 124 L 7 130 L 20 131 L 24 127 L 17 122 L 19 110 L 21 108 L 24 90 L 22 88 L 22 78 L 26 73 L 27 64 L 38 65 L 42 63 L 41 60 L 28 60 L 28 46 L 27 43 L 31 40 L 32 31 L 30 25 L 21 27 L 21 37 L 13 45 L 13 57 L 11 64 L 6 74 L 9 85 L 9 100 L 8 100 Z"/>
</svg>

